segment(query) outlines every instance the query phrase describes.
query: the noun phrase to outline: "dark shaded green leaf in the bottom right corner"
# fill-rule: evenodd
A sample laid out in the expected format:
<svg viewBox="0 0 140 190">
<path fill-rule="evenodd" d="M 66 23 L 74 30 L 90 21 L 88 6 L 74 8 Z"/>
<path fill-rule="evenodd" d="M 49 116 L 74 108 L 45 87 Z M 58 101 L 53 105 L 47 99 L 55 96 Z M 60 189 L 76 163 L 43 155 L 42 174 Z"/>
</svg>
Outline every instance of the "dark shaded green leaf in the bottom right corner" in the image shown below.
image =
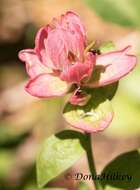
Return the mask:
<svg viewBox="0 0 140 190">
<path fill-rule="evenodd" d="M 111 161 L 102 171 L 102 176 L 109 175 L 101 180 L 105 190 L 127 189 L 134 190 L 140 187 L 140 150 L 122 154 Z"/>
</svg>

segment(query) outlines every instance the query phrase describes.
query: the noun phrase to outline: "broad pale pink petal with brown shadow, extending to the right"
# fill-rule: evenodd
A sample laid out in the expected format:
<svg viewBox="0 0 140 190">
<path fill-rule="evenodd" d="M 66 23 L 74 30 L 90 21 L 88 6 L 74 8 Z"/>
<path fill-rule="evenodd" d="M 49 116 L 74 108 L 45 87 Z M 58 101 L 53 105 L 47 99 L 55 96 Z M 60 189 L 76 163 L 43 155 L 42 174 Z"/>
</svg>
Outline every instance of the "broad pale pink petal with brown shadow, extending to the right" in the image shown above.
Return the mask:
<svg viewBox="0 0 140 190">
<path fill-rule="evenodd" d="M 135 67 L 137 59 L 127 54 L 130 46 L 120 51 L 114 51 L 97 56 L 95 76 L 89 87 L 100 87 L 120 80 Z M 94 74 L 94 73 L 93 73 Z"/>
</svg>

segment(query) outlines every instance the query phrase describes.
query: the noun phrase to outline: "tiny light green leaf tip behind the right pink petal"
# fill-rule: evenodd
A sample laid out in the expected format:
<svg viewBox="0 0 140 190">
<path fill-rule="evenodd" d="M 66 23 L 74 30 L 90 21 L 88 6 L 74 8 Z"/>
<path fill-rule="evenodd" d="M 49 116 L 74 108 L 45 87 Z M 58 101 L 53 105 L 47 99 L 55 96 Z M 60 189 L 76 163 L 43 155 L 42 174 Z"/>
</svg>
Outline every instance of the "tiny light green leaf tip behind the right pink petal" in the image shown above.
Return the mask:
<svg viewBox="0 0 140 190">
<path fill-rule="evenodd" d="M 115 44 L 113 42 L 105 42 L 104 44 L 102 44 L 102 46 L 100 46 L 99 48 L 101 53 L 107 53 L 110 51 L 115 51 Z"/>
</svg>

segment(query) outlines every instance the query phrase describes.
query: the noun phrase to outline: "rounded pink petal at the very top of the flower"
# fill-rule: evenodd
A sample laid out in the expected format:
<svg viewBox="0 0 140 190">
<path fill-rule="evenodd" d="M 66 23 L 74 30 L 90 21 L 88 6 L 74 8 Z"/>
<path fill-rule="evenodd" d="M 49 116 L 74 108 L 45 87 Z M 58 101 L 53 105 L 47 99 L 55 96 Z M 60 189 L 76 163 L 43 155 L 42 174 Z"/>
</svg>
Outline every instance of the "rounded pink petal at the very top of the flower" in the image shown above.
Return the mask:
<svg viewBox="0 0 140 190">
<path fill-rule="evenodd" d="M 86 43 L 86 32 L 85 28 L 79 18 L 79 16 L 72 12 L 68 11 L 66 14 L 61 16 L 61 26 L 65 29 L 69 29 L 81 35 L 83 38 L 84 44 Z"/>
</svg>

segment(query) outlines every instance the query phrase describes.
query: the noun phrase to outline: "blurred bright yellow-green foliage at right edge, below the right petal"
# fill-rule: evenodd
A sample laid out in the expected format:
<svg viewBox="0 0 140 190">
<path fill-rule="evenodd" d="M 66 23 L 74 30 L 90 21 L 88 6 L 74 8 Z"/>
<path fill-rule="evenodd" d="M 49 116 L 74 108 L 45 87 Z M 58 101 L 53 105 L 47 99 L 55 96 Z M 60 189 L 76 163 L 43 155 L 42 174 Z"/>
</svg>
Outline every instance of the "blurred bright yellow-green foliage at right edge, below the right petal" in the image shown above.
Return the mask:
<svg viewBox="0 0 140 190">
<path fill-rule="evenodd" d="M 116 137 L 133 137 L 140 134 L 140 65 L 137 64 L 128 77 L 120 81 L 112 101 L 114 119 L 105 133 Z"/>
</svg>

